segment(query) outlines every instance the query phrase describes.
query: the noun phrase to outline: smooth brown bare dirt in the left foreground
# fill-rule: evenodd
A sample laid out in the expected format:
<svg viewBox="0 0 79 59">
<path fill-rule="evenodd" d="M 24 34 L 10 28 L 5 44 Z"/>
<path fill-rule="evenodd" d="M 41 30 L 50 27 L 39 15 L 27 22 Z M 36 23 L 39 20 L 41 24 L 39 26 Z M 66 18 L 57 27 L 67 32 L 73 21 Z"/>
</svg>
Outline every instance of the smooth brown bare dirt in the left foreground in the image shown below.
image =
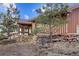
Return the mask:
<svg viewBox="0 0 79 59">
<path fill-rule="evenodd" d="M 27 43 L 0 45 L 0 56 L 34 56 L 36 53 L 35 46 Z"/>
</svg>

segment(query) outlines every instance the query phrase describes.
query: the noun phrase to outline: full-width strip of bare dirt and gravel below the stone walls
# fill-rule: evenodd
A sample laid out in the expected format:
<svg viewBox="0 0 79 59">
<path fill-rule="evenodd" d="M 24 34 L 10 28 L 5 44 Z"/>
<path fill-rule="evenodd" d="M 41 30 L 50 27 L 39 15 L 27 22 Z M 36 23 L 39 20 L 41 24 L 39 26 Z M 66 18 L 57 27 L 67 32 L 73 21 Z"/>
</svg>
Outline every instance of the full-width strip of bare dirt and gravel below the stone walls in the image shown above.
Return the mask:
<svg viewBox="0 0 79 59">
<path fill-rule="evenodd" d="M 29 43 L 0 44 L 0 56 L 79 56 L 79 42 L 54 42 L 39 50 Z"/>
</svg>

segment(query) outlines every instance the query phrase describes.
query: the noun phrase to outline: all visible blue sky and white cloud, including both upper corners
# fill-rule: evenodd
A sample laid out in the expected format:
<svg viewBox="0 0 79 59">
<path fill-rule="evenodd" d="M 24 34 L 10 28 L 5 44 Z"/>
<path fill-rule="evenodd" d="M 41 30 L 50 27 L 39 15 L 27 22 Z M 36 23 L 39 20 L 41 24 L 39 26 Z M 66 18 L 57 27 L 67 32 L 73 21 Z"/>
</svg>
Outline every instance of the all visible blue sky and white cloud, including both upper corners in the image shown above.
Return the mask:
<svg viewBox="0 0 79 59">
<path fill-rule="evenodd" d="M 37 8 L 40 8 L 42 3 L 14 3 L 14 7 L 17 7 L 20 11 L 20 19 L 27 20 L 36 17 L 38 14 L 34 11 Z M 70 3 L 70 6 L 75 6 L 79 4 Z M 0 4 L 0 12 L 5 12 L 6 7 L 9 7 L 9 4 Z"/>
</svg>

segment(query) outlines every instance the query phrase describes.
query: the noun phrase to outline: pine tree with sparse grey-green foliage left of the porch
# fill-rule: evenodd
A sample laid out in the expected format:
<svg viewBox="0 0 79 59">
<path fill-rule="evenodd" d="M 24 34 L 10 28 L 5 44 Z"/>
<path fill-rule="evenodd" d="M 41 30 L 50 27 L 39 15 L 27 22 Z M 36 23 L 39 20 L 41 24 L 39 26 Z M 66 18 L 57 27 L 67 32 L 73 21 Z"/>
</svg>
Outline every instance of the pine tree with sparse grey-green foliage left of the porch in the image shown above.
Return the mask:
<svg viewBox="0 0 79 59">
<path fill-rule="evenodd" d="M 3 19 L 3 22 L 1 25 L 2 33 L 7 33 L 8 36 L 10 32 L 13 32 L 15 29 L 17 29 L 17 20 L 19 20 L 19 11 L 17 8 L 13 8 L 13 5 L 10 4 L 10 8 L 7 8 L 6 13 L 0 14 L 1 19 Z"/>
</svg>

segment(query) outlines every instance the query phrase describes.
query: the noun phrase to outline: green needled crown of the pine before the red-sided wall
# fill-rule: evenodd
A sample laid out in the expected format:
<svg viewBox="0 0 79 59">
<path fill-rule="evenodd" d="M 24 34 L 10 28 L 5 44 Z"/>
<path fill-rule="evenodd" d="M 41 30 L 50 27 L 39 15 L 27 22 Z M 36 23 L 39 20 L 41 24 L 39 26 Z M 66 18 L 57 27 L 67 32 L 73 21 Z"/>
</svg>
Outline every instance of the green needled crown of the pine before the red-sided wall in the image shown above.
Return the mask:
<svg viewBox="0 0 79 59">
<path fill-rule="evenodd" d="M 58 26 L 65 24 L 67 22 L 68 6 L 62 3 L 47 3 L 46 6 L 42 6 L 42 9 L 45 10 L 43 13 L 42 10 L 37 9 L 36 12 L 39 13 L 36 22 L 43 24 L 52 24 L 53 26 Z"/>
</svg>

